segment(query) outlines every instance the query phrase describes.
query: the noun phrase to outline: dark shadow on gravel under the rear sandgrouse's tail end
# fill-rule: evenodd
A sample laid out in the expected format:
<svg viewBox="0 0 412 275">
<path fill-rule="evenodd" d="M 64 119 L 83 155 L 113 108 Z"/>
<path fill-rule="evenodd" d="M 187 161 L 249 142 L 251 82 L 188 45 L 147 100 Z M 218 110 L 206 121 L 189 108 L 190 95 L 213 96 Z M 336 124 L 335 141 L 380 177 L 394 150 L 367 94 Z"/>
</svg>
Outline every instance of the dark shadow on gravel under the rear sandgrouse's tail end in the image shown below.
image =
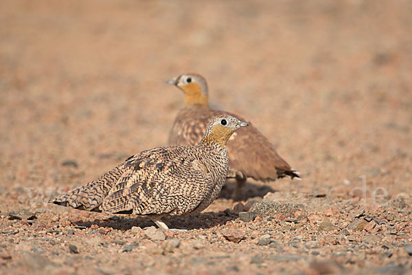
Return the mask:
<svg viewBox="0 0 412 275">
<path fill-rule="evenodd" d="M 236 193 L 237 182 L 234 180 L 226 181 L 220 192 L 220 199 L 233 199 L 234 201 L 247 201 L 253 197 L 264 197 L 268 192 L 277 192 L 267 185 L 252 184 L 248 181 L 242 186 L 240 192 Z"/>
</svg>

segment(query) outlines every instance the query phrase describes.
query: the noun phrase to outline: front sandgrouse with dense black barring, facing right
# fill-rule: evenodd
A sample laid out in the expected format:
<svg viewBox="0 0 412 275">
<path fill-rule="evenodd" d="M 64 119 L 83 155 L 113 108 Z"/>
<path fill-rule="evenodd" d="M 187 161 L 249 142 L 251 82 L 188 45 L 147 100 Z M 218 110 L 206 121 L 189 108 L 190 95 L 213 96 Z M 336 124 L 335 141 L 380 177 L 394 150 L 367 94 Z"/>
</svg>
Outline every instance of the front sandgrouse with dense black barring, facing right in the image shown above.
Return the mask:
<svg viewBox="0 0 412 275">
<path fill-rule="evenodd" d="M 168 230 L 164 217 L 197 214 L 220 194 L 229 170 L 226 143 L 240 127 L 230 115 L 216 115 L 196 146 L 159 147 L 122 164 L 52 203 L 109 214 L 145 215 Z"/>
</svg>

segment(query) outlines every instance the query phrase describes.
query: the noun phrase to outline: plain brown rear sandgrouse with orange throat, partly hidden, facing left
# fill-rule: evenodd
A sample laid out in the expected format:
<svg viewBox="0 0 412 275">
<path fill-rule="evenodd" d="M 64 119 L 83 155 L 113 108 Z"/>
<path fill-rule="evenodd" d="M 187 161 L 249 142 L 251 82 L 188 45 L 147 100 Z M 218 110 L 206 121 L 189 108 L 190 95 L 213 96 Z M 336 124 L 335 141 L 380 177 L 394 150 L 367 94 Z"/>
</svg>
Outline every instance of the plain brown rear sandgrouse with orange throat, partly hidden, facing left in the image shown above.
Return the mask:
<svg viewBox="0 0 412 275">
<path fill-rule="evenodd" d="M 185 93 L 185 106 L 179 111 L 170 131 L 169 145 L 198 144 L 205 132 L 207 121 L 214 115 L 238 115 L 209 108 L 209 97 L 205 78 L 198 74 L 182 74 L 169 80 Z M 300 173 L 290 168 L 280 157 L 271 142 L 250 122 L 249 127 L 234 133 L 227 142 L 230 168 L 227 177 L 238 182 L 233 197 L 239 195 L 247 177 L 258 181 L 273 181 L 290 176 L 300 179 Z"/>
</svg>

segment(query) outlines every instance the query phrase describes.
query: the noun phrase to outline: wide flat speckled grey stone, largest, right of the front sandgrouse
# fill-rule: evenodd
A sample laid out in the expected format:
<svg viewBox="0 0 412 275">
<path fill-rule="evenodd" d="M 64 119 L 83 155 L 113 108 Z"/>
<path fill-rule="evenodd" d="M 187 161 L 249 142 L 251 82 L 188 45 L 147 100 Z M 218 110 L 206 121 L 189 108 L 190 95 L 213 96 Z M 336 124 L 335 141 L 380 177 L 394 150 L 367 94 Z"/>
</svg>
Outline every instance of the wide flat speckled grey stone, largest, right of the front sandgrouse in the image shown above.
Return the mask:
<svg viewBox="0 0 412 275">
<path fill-rule="evenodd" d="M 260 217 L 275 217 L 281 214 L 292 218 L 305 212 L 304 206 L 300 204 L 273 201 L 259 201 L 253 204 L 251 211 L 256 212 Z"/>
</svg>

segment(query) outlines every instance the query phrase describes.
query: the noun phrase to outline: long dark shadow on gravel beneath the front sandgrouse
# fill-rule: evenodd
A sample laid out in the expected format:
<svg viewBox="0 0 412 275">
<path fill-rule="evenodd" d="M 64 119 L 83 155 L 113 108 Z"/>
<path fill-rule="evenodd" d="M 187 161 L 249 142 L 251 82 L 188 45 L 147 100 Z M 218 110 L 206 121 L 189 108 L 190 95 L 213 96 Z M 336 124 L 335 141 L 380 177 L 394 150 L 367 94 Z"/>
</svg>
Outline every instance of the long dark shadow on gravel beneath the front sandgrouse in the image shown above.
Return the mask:
<svg viewBox="0 0 412 275">
<path fill-rule="evenodd" d="M 204 212 L 188 217 L 168 217 L 168 221 L 171 224 L 170 228 L 175 229 L 209 229 L 218 225 L 225 225 L 228 221 L 233 221 L 238 218 L 237 214 L 231 214 L 229 212 Z M 75 221 L 75 226 L 82 228 L 91 228 L 92 225 L 98 225 L 102 228 L 113 228 L 115 230 L 130 230 L 133 226 L 140 228 L 146 228 L 150 226 L 156 226 L 148 217 L 142 217 L 137 215 L 122 215 L 117 214 L 108 219 L 95 219 L 93 221 Z"/>
</svg>

